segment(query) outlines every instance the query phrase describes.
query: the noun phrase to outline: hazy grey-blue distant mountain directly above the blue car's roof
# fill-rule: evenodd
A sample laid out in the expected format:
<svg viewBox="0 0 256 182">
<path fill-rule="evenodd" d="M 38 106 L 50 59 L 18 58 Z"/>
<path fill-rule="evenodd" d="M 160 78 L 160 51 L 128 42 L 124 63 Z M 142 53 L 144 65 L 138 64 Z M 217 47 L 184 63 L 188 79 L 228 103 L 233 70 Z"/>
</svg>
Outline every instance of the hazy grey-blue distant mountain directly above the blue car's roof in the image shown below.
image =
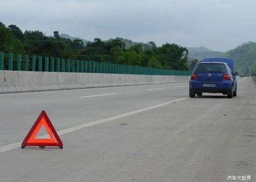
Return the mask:
<svg viewBox="0 0 256 182">
<path fill-rule="evenodd" d="M 220 57 L 223 52 L 213 51 L 206 47 L 187 47 L 189 59 L 198 59 L 201 61 L 206 57 Z"/>
</svg>

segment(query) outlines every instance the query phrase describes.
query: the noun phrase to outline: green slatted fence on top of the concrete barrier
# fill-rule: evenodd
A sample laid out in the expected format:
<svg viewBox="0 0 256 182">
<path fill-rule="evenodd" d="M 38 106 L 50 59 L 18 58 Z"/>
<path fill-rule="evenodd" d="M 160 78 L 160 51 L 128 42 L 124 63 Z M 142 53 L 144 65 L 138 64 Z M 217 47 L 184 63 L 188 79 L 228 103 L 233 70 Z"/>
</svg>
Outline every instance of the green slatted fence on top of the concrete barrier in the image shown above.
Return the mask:
<svg viewBox="0 0 256 182">
<path fill-rule="evenodd" d="M 190 71 L 173 69 L 159 69 L 122 65 L 98 61 L 84 61 L 54 57 L 42 57 L 36 55 L 14 56 L 0 52 L 0 70 L 17 71 L 50 71 L 50 72 L 80 72 L 80 73 L 118 73 L 139 75 L 190 75 Z"/>
</svg>

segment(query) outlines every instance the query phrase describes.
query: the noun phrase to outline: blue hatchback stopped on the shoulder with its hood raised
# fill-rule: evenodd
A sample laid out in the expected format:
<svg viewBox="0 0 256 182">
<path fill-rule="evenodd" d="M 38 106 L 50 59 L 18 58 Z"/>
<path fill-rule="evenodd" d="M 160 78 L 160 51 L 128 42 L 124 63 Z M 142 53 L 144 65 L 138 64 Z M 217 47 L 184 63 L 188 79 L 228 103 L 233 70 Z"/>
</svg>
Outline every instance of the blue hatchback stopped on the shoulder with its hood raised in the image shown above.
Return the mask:
<svg viewBox="0 0 256 182">
<path fill-rule="evenodd" d="M 211 57 L 197 63 L 189 81 L 189 97 L 202 93 L 222 93 L 228 98 L 236 96 L 237 81 L 234 61 L 224 57 Z"/>
</svg>

